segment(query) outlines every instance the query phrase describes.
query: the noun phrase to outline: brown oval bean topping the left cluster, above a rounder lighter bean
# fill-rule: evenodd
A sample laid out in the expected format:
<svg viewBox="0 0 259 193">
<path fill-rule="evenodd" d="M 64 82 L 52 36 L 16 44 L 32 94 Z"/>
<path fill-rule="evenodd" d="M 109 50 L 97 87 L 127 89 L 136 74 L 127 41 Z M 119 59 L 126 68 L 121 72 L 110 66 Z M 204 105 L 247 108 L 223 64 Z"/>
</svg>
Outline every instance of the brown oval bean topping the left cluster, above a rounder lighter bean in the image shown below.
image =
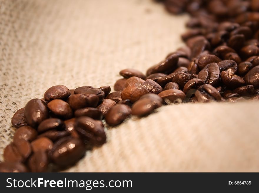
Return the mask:
<svg viewBox="0 0 259 193">
<path fill-rule="evenodd" d="M 70 96 L 70 90 L 64 85 L 50 87 L 44 93 L 44 100 L 51 101 L 53 99 L 67 99 Z"/>
</svg>

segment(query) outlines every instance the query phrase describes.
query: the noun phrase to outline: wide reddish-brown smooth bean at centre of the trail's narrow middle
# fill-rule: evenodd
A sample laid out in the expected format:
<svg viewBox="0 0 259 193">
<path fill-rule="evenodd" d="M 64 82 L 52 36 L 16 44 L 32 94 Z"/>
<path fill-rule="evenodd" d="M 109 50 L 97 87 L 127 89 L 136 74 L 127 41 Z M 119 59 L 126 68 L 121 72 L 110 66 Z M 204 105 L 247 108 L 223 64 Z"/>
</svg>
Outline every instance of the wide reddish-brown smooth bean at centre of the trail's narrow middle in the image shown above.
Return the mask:
<svg viewBox="0 0 259 193">
<path fill-rule="evenodd" d="M 129 99 L 132 103 L 134 103 L 142 95 L 145 95 L 147 93 L 149 93 L 149 91 L 143 86 L 132 85 L 132 86 L 128 86 L 122 91 L 121 98 L 122 100 Z"/>
</svg>

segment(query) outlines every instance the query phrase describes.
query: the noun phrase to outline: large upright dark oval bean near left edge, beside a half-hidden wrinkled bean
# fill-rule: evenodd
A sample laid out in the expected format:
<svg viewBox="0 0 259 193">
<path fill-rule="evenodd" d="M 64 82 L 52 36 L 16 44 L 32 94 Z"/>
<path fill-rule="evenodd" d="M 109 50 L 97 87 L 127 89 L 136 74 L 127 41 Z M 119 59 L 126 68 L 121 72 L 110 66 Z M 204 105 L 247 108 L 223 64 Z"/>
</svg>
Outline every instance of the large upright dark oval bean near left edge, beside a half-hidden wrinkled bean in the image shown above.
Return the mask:
<svg viewBox="0 0 259 193">
<path fill-rule="evenodd" d="M 31 127 L 37 127 L 41 121 L 49 118 L 47 105 L 40 99 L 31 99 L 25 105 L 24 116 Z"/>
</svg>

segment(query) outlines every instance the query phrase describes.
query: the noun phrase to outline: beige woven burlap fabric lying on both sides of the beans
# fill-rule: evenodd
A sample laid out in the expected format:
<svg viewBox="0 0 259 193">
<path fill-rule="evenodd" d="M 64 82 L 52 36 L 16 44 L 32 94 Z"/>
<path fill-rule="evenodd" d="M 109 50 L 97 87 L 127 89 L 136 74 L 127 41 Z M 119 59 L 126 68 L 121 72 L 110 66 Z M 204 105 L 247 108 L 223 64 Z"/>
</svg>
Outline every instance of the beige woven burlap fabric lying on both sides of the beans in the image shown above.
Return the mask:
<svg viewBox="0 0 259 193">
<path fill-rule="evenodd" d="M 113 86 L 182 45 L 188 16 L 148 0 L 0 2 L 0 155 L 11 117 L 52 85 Z M 68 172 L 259 172 L 258 104 L 165 106 L 107 129 L 108 142 Z"/>
</svg>

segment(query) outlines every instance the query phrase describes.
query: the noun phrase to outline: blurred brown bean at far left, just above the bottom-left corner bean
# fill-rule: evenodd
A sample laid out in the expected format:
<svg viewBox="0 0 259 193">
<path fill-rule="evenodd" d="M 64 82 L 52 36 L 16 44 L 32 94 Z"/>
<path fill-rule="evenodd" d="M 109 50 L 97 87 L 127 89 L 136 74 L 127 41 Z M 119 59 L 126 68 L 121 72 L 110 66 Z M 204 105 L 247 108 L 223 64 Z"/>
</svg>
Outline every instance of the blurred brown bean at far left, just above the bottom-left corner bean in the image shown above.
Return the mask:
<svg viewBox="0 0 259 193">
<path fill-rule="evenodd" d="M 23 162 L 24 158 L 18 151 L 17 147 L 11 143 L 4 149 L 4 161 L 5 162 Z"/>
</svg>

